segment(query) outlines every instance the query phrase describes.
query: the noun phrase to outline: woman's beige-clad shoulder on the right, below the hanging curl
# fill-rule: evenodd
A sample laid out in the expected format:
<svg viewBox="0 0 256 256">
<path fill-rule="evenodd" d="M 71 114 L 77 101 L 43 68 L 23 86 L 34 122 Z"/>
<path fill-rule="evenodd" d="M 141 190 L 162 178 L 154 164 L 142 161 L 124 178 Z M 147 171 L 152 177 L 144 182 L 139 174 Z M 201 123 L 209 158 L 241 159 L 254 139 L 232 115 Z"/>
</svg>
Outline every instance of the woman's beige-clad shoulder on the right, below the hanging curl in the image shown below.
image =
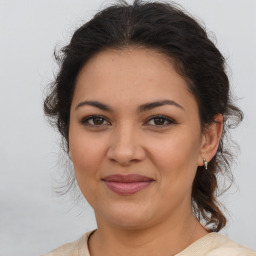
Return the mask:
<svg viewBox="0 0 256 256">
<path fill-rule="evenodd" d="M 256 256 L 256 252 L 225 235 L 213 232 L 197 240 L 176 256 Z"/>
</svg>

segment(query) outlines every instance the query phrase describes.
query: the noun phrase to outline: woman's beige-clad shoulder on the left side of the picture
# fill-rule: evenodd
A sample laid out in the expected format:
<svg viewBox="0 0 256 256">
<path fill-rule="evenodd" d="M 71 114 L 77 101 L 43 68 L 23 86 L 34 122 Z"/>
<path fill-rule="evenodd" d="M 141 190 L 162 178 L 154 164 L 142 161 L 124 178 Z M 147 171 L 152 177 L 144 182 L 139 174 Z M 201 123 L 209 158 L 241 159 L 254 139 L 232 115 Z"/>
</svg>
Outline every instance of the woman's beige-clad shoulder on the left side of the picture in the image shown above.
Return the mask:
<svg viewBox="0 0 256 256">
<path fill-rule="evenodd" d="M 42 254 L 41 256 L 90 256 L 87 241 L 92 232 L 93 231 L 88 232 L 84 234 L 80 239 L 71 243 L 64 244 L 47 254 Z"/>
</svg>

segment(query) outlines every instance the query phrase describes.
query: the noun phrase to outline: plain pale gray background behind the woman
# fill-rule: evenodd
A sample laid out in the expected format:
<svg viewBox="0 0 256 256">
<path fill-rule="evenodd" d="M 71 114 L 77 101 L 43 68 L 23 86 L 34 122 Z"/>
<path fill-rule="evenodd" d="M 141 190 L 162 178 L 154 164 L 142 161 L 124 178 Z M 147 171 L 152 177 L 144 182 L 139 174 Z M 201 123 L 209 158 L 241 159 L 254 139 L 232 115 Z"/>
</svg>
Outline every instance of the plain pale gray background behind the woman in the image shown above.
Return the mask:
<svg viewBox="0 0 256 256">
<path fill-rule="evenodd" d="M 129 1 L 131 2 L 131 1 Z M 256 249 L 256 1 L 182 0 L 200 17 L 228 60 L 244 123 L 233 166 L 237 186 L 222 198 L 229 210 L 224 234 Z M 96 227 L 88 205 L 74 206 L 53 192 L 60 149 L 42 111 L 53 78 L 53 49 L 110 1 L 0 0 L 0 255 L 32 256 L 77 239 Z"/>
</svg>

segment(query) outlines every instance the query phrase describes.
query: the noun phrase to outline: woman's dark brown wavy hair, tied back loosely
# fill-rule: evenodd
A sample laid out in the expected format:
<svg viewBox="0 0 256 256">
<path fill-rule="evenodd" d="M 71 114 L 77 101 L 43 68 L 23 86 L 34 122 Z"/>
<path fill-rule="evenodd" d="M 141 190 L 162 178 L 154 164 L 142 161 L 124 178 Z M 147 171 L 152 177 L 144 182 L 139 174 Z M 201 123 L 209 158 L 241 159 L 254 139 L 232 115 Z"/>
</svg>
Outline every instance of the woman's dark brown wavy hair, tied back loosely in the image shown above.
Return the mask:
<svg viewBox="0 0 256 256">
<path fill-rule="evenodd" d="M 119 1 L 98 12 L 77 29 L 71 42 L 62 48 L 57 61 L 59 72 L 44 102 L 44 111 L 57 126 L 68 151 L 69 116 L 76 78 L 96 53 L 106 49 L 144 47 L 170 58 L 195 96 L 202 129 L 224 116 L 224 130 L 216 155 L 208 170 L 198 167 L 192 190 L 194 215 L 219 231 L 226 218 L 217 201 L 219 174 L 230 176 L 230 147 L 226 148 L 229 128 L 243 114 L 231 101 L 225 59 L 208 38 L 202 25 L 174 4 L 135 0 L 132 5 Z"/>
</svg>

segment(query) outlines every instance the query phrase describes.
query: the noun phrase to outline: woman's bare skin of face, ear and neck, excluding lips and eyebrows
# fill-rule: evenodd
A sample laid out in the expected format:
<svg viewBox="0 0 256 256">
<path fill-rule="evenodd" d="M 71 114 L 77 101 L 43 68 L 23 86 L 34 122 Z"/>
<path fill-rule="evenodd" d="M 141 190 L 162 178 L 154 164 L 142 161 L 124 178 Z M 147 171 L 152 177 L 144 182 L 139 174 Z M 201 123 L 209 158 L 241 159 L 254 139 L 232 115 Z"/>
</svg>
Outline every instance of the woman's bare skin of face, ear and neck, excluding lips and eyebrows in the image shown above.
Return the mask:
<svg viewBox="0 0 256 256">
<path fill-rule="evenodd" d="M 138 111 L 162 100 L 175 103 Z M 198 113 L 186 81 L 153 50 L 106 50 L 85 64 L 71 106 L 69 146 L 78 185 L 97 220 L 92 256 L 170 256 L 208 233 L 193 217 L 191 190 L 203 158 L 216 153 L 222 116 L 202 132 Z M 102 117 L 86 120 L 91 115 Z M 159 124 L 156 115 L 168 119 Z M 154 182 L 124 196 L 102 181 L 131 173 Z"/>
</svg>

